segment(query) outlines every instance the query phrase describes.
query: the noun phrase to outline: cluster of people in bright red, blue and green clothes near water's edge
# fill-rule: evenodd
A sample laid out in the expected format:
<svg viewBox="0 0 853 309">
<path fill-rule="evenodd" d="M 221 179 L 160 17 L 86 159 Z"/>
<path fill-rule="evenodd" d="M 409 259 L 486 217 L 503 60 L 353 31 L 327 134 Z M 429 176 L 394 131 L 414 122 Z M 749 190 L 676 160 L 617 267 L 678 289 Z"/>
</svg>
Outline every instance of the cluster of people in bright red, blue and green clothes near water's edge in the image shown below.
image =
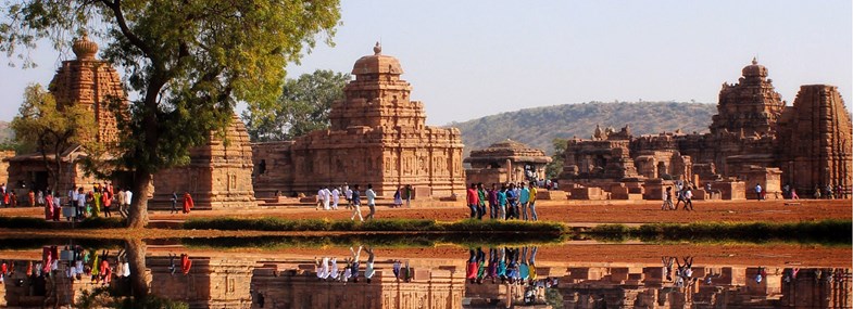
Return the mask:
<svg viewBox="0 0 853 309">
<path fill-rule="evenodd" d="M 472 183 L 466 192 L 466 204 L 471 209 L 471 218 L 482 220 L 486 216 L 488 202 L 489 219 L 510 220 L 523 219 L 525 221 L 539 220 L 536 213 L 537 182 L 504 183 L 498 189 L 492 183 L 490 189 L 485 189 L 482 183 Z M 528 211 L 529 209 L 529 211 Z"/>
</svg>

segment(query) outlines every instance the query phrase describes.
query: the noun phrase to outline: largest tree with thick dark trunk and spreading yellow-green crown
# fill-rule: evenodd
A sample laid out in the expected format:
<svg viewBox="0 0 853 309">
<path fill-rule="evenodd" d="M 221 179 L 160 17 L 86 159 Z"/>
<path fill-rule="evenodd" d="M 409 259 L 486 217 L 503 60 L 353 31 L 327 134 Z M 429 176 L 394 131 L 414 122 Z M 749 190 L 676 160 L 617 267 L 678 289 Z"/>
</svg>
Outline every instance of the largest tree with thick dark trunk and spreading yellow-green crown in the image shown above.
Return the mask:
<svg viewBox="0 0 853 309">
<path fill-rule="evenodd" d="M 331 43 L 339 18 L 338 0 L 28 0 L 5 12 L 0 50 L 26 55 L 41 39 L 63 49 L 70 29 L 106 43 L 102 56 L 138 98 L 116 113 L 126 132 L 116 164 L 133 173 L 128 226 L 142 228 L 152 175 L 224 132 L 236 102 L 273 104 L 285 66 L 319 33 Z"/>
</svg>

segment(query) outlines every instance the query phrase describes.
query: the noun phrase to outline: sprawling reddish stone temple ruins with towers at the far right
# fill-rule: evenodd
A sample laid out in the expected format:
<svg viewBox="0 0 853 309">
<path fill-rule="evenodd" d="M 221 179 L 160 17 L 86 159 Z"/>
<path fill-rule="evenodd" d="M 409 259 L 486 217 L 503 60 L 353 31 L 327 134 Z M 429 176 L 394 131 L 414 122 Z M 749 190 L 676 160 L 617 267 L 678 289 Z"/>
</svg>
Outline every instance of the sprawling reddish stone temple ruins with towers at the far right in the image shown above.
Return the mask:
<svg viewBox="0 0 853 309">
<path fill-rule="evenodd" d="M 573 195 L 601 198 L 660 198 L 670 180 L 710 183 L 720 194 L 697 190 L 699 198 L 755 198 L 756 183 L 767 198 L 781 198 L 786 184 L 803 197 L 826 185 L 850 196 L 853 132 L 838 88 L 802 86 L 787 106 L 765 66 L 753 60 L 741 73 L 723 85 L 710 133 L 634 137 L 627 126 L 595 128 L 589 140 L 568 141 L 561 179 Z"/>
</svg>

